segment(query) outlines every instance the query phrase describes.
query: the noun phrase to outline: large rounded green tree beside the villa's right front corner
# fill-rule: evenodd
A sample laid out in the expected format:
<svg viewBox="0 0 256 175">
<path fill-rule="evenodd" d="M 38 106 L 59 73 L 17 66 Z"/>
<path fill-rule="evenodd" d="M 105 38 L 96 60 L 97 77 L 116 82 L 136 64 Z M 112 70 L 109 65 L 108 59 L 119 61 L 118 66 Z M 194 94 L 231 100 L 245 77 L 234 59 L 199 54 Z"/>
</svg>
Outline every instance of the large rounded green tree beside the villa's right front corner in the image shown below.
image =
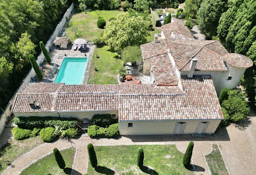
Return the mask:
<svg viewBox="0 0 256 175">
<path fill-rule="evenodd" d="M 228 91 L 228 99 L 222 102 L 222 107 L 228 111 L 232 122 L 239 122 L 249 114 L 245 95 L 238 89 Z"/>
</svg>

